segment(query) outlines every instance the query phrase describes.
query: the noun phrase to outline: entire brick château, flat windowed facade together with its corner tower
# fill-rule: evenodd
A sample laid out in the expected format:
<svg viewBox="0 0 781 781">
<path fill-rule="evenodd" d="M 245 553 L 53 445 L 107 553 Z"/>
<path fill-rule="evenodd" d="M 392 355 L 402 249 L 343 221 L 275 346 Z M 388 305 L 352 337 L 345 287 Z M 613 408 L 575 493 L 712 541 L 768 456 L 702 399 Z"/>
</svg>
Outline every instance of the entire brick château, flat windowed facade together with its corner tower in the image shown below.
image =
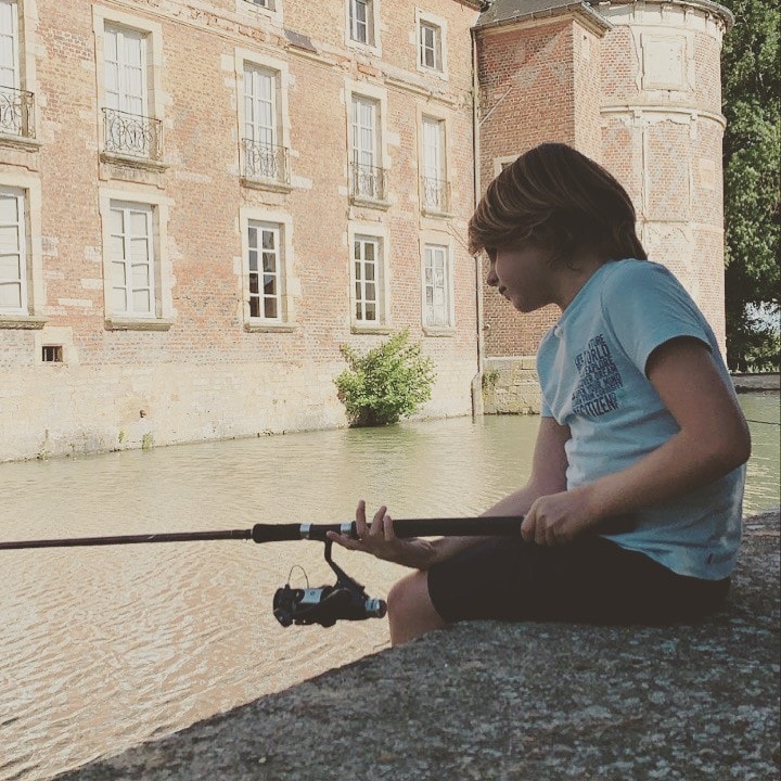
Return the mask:
<svg viewBox="0 0 781 781">
<path fill-rule="evenodd" d="M 709 0 L 0 0 L 0 461 L 343 425 L 409 328 L 426 415 L 537 341 L 469 256 L 489 179 L 574 144 L 724 338 Z M 526 376 L 528 375 L 528 376 Z M 533 386 L 529 386 L 533 387 Z"/>
</svg>

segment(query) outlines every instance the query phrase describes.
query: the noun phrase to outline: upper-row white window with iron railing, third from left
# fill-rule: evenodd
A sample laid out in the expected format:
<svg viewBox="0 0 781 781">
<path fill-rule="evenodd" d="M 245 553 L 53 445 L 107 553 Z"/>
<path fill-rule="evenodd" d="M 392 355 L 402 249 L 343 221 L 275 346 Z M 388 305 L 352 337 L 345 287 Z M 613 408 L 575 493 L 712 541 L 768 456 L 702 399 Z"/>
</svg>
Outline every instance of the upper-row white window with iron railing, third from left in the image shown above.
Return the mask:
<svg viewBox="0 0 781 781">
<path fill-rule="evenodd" d="M 290 181 L 287 150 L 279 143 L 278 74 L 244 65 L 244 176 Z"/>
</svg>

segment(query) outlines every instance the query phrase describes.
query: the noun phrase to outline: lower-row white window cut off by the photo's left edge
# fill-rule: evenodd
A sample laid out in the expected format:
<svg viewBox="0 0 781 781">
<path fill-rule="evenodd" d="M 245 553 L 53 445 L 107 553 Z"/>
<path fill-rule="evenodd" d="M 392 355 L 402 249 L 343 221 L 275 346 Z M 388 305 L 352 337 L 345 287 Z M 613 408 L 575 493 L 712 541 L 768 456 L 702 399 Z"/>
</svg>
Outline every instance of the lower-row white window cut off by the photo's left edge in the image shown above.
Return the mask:
<svg viewBox="0 0 781 781">
<path fill-rule="evenodd" d="M 0 189 L 0 316 L 28 315 L 25 193 Z"/>
</svg>

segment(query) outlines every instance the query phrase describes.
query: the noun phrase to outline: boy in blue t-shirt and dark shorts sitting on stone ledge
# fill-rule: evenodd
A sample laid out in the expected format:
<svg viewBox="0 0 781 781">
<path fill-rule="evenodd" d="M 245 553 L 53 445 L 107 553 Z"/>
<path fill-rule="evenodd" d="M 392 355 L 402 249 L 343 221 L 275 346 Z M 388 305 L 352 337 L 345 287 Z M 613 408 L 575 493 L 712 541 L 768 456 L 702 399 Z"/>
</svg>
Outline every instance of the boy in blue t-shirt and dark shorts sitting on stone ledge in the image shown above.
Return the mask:
<svg viewBox="0 0 781 781">
<path fill-rule="evenodd" d="M 388 594 L 394 644 L 456 620 L 660 623 L 724 600 L 748 430 L 710 328 L 635 222 L 624 188 L 564 144 L 481 200 L 470 248 L 487 283 L 520 311 L 562 311 L 537 355 L 532 475 L 485 513 L 525 517 L 517 538 L 398 539 L 360 502 L 360 539 L 332 539 L 417 569 Z"/>
</svg>

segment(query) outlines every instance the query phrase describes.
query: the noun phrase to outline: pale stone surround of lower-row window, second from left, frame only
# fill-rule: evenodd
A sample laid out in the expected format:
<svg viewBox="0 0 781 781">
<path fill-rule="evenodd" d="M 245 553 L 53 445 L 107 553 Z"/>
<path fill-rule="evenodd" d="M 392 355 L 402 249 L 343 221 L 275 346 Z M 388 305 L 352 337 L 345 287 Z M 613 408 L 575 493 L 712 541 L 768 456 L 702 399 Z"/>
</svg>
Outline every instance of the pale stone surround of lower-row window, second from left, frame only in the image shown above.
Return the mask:
<svg viewBox="0 0 781 781">
<path fill-rule="evenodd" d="M 152 208 L 155 317 L 129 317 L 113 315 L 112 304 L 112 254 L 111 254 L 111 209 L 112 203 L 138 203 Z M 168 220 L 170 199 L 165 195 L 138 189 L 100 188 L 99 206 L 101 216 L 103 249 L 103 306 L 105 327 L 108 331 L 168 331 L 176 322 L 174 309 L 172 269 L 168 255 Z"/>
</svg>

